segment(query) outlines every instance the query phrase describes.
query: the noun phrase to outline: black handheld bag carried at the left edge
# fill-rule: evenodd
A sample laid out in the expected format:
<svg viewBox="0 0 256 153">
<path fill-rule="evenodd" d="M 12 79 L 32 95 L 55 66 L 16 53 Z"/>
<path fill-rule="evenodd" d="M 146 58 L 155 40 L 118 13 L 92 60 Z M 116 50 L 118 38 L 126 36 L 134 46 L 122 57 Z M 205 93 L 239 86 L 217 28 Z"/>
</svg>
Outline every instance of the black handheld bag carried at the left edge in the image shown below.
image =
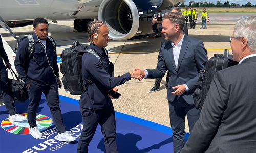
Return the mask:
<svg viewBox="0 0 256 153">
<path fill-rule="evenodd" d="M 10 69 L 11 69 L 12 77 L 13 77 L 13 74 L 16 77 L 16 80 L 14 79 L 14 77 L 13 79 L 8 78 L 8 86 L 10 87 L 12 99 L 14 102 L 24 103 L 29 98 L 26 84 L 18 78 L 18 76 L 16 75 L 16 73 L 13 71 L 12 68 Z"/>
</svg>

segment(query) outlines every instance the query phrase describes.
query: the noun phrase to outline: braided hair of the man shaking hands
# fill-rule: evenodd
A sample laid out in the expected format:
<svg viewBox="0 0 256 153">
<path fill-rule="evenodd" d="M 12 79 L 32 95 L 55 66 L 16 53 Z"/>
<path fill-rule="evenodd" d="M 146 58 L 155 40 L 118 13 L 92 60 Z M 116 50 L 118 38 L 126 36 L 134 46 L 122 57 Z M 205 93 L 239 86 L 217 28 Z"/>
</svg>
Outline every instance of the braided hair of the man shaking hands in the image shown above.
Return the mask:
<svg viewBox="0 0 256 153">
<path fill-rule="evenodd" d="M 103 25 L 106 25 L 105 23 L 103 23 L 100 20 L 94 20 L 92 21 L 89 25 L 88 25 L 88 29 L 87 29 L 87 33 L 88 33 L 88 41 L 91 42 L 92 41 L 92 37 L 93 34 L 98 33 L 99 32 L 99 28 Z"/>
</svg>

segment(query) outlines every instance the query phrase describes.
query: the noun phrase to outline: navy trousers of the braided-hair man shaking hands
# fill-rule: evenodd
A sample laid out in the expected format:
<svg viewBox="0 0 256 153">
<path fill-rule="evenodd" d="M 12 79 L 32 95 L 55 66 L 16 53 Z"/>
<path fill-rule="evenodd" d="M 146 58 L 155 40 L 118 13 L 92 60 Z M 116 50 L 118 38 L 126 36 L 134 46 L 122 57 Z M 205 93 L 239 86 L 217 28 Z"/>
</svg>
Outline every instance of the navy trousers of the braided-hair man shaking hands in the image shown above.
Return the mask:
<svg viewBox="0 0 256 153">
<path fill-rule="evenodd" d="M 88 153 L 89 143 L 92 141 L 98 124 L 104 136 L 107 153 L 117 153 L 116 118 L 113 104 L 104 109 L 81 108 L 83 129 L 77 145 L 77 153 Z"/>
</svg>

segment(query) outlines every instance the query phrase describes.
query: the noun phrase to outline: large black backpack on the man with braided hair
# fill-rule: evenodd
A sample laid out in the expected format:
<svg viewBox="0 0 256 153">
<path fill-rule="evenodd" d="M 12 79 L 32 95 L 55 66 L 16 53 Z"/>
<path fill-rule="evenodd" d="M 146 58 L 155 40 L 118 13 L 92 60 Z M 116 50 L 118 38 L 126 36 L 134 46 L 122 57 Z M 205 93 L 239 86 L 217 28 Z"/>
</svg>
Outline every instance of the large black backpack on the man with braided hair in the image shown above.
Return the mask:
<svg viewBox="0 0 256 153">
<path fill-rule="evenodd" d="M 93 81 L 93 77 L 89 77 L 86 84 L 83 83 L 82 55 L 86 52 L 93 54 L 102 64 L 99 55 L 94 50 L 87 48 L 87 46 L 74 41 L 70 48 L 63 50 L 60 54 L 62 60 L 60 72 L 63 74 L 61 80 L 65 91 L 69 91 L 71 95 L 81 95 L 87 85 Z"/>
</svg>

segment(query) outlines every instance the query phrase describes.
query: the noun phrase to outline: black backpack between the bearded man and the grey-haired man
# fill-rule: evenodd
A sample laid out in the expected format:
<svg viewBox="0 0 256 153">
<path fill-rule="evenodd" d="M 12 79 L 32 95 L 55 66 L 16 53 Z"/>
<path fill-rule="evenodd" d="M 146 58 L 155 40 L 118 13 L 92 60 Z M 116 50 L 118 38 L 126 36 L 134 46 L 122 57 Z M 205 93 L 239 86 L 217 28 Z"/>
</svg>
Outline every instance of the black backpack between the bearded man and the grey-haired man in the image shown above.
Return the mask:
<svg viewBox="0 0 256 153">
<path fill-rule="evenodd" d="M 233 55 L 228 54 L 228 49 L 224 49 L 224 54 L 215 54 L 214 57 L 211 57 L 208 62 L 203 64 L 204 71 L 197 81 L 198 86 L 193 94 L 196 109 L 202 109 L 214 74 L 222 69 L 238 64 L 232 58 Z"/>
</svg>

